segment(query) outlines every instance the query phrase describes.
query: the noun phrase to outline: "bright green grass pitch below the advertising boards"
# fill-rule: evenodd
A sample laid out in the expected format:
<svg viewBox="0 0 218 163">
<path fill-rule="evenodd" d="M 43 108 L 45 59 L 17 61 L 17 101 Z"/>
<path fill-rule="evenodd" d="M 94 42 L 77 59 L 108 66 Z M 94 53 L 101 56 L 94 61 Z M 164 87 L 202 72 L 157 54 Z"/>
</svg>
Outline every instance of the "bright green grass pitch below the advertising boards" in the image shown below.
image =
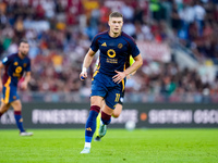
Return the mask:
<svg viewBox="0 0 218 163">
<path fill-rule="evenodd" d="M 0 130 L 0 163 L 218 163 L 218 129 L 109 128 L 89 154 L 80 153 L 84 129 L 33 131 Z"/>
</svg>

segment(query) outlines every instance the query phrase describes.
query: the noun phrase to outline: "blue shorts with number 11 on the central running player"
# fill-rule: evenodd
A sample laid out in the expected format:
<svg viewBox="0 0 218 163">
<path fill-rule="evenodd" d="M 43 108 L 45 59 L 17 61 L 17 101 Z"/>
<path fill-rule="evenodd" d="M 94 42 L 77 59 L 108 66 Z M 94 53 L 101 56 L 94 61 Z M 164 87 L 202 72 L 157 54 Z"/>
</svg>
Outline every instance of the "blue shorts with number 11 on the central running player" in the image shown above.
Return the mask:
<svg viewBox="0 0 218 163">
<path fill-rule="evenodd" d="M 112 80 L 111 76 L 96 72 L 92 82 L 92 96 L 99 96 L 105 99 L 106 104 L 114 109 L 124 91 L 125 79 L 120 84 Z"/>
</svg>

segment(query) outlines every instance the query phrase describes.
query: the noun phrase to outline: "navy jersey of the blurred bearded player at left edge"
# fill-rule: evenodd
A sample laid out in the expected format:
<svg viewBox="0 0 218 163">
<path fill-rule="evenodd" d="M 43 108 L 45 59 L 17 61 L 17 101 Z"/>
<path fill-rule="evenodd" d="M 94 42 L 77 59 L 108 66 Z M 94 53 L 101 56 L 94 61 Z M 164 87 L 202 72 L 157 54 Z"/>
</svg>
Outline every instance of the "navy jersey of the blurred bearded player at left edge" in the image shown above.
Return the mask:
<svg viewBox="0 0 218 163">
<path fill-rule="evenodd" d="M 10 85 L 17 86 L 23 73 L 31 72 L 31 59 L 26 57 L 22 60 L 17 53 L 5 57 L 2 63 L 5 66 L 2 79 L 3 85 L 10 79 Z"/>
</svg>

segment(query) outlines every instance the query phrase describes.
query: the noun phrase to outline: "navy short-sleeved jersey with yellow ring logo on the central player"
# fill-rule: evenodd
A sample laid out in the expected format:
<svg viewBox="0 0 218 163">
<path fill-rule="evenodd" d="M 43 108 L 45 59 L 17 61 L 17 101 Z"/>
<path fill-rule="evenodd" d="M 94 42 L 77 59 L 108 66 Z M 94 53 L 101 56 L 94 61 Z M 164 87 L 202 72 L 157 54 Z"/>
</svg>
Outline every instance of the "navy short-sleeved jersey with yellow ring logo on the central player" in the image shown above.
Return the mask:
<svg viewBox="0 0 218 163">
<path fill-rule="evenodd" d="M 140 50 L 132 37 L 121 33 L 119 37 L 110 37 L 109 32 L 96 35 L 92 41 L 90 49 L 95 52 L 100 50 L 98 70 L 100 73 L 113 76 L 114 71 L 123 72 L 126 63 L 130 63 L 130 55 L 133 58 L 140 54 Z"/>
</svg>

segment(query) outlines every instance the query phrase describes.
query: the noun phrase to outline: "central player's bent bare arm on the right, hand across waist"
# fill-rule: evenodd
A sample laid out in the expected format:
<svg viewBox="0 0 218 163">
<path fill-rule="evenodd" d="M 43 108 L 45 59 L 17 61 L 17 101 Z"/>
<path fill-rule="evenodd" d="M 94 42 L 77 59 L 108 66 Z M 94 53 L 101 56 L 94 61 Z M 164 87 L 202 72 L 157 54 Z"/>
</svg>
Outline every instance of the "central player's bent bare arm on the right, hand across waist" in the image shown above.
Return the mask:
<svg viewBox="0 0 218 163">
<path fill-rule="evenodd" d="M 138 67 L 141 67 L 143 65 L 143 59 L 142 59 L 141 54 L 135 57 L 134 61 L 135 62 L 129 68 L 126 68 L 124 72 L 116 71 L 116 73 L 118 73 L 118 74 L 112 77 L 114 83 L 118 83 L 118 84 L 121 83 L 122 79 L 125 78 L 125 76 L 134 73 L 135 71 L 137 71 Z"/>
</svg>

